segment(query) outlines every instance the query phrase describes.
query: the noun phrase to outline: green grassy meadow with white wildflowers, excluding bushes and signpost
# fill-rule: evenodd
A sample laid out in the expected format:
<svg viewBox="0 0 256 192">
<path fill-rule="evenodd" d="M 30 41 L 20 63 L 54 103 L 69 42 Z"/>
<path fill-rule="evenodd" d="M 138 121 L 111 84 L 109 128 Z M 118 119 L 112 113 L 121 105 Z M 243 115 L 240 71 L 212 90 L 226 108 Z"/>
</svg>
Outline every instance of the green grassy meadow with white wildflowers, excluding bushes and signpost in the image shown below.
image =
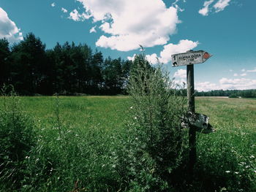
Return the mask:
<svg viewBox="0 0 256 192">
<path fill-rule="evenodd" d="M 116 171 L 122 165 L 116 154 L 120 140 L 129 142 L 127 126 L 135 118 L 129 96 L 18 99 L 36 140 L 22 164 L 13 164 L 7 173 L 1 169 L 3 191 L 141 191 Z M 0 105 L 4 102 L 1 97 Z M 197 134 L 195 177 L 186 182 L 184 160 L 173 171 L 172 190 L 256 191 L 256 100 L 198 97 L 195 108 L 210 117 L 216 132 Z"/>
</svg>

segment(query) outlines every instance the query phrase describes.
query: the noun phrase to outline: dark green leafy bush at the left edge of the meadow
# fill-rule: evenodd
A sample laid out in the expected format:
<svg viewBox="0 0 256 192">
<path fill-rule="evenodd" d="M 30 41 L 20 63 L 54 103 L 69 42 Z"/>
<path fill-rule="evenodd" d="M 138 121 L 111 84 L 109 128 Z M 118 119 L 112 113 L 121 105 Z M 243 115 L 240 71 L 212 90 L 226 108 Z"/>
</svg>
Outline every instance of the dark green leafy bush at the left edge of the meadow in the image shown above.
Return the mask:
<svg viewBox="0 0 256 192">
<path fill-rule="evenodd" d="M 4 95 L 0 110 L 0 188 L 20 187 L 26 174 L 26 158 L 35 145 L 34 125 L 22 112 L 17 96 L 12 90 Z"/>
</svg>

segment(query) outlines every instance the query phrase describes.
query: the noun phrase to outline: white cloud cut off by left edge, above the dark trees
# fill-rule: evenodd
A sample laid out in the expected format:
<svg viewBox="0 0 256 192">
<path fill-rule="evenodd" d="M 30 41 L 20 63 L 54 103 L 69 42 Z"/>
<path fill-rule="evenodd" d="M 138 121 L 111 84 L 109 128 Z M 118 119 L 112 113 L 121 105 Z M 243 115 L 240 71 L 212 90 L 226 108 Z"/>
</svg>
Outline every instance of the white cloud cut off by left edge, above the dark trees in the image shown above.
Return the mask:
<svg viewBox="0 0 256 192">
<path fill-rule="evenodd" d="M 23 40 L 22 32 L 16 24 L 10 20 L 7 12 L 0 7 L 0 39 L 6 38 L 9 42 L 18 42 Z"/>
</svg>

